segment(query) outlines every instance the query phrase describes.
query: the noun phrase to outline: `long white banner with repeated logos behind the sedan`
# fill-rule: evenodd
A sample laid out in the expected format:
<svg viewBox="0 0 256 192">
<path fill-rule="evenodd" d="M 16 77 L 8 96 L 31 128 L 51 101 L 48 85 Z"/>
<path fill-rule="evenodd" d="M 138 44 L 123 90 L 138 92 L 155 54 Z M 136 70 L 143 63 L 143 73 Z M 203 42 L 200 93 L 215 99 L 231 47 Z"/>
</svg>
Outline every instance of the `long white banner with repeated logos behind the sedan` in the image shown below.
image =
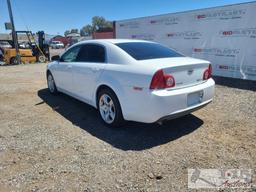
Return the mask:
<svg viewBox="0 0 256 192">
<path fill-rule="evenodd" d="M 116 22 L 116 37 L 209 60 L 216 76 L 256 80 L 256 2 Z"/>
</svg>

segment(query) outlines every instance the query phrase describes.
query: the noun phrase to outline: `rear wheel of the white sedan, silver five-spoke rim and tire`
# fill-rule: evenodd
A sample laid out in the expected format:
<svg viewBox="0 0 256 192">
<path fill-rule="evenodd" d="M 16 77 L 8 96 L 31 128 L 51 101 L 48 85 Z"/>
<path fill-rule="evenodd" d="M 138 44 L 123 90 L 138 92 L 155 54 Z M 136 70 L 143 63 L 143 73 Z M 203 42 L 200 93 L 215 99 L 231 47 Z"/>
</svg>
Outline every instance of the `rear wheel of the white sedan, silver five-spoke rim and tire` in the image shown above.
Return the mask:
<svg viewBox="0 0 256 192">
<path fill-rule="evenodd" d="M 105 125 L 120 127 L 124 124 L 122 109 L 116 94 L 110 89 L 102 89 L 97 97 L 98 113 Z"/>
</svg>

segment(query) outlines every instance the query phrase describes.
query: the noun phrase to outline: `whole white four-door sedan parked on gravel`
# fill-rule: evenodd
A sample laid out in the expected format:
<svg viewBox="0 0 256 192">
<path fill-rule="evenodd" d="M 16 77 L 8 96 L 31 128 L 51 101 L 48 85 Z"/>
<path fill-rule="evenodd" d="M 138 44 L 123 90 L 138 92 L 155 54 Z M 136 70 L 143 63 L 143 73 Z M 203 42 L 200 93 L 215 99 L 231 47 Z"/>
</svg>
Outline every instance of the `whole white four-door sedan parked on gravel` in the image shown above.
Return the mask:
<svg viewBox="0 0 256 192">
<path fill-rule="evenodd" d="M 92 105 L 110 126 L 177 118 L 207 105 L 214 95 L 208 61 L 154 42 L 83 41 L 52 60 L 49 91 Z"/>
</svg>

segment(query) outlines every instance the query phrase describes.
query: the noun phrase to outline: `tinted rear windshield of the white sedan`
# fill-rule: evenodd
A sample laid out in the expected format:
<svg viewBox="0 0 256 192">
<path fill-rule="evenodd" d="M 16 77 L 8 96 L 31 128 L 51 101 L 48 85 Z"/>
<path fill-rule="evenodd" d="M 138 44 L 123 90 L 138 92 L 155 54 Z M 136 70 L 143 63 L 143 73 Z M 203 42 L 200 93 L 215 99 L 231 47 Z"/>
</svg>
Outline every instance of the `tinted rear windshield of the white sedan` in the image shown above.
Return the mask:
<svg viewBox="0 0 256 192">
<path fill-rule="evenodd" d="M 182 54 L 157 43 L 129 42 L 117 43 L 116 45 L 136 60 L 184 57 Z"/>
</svg>

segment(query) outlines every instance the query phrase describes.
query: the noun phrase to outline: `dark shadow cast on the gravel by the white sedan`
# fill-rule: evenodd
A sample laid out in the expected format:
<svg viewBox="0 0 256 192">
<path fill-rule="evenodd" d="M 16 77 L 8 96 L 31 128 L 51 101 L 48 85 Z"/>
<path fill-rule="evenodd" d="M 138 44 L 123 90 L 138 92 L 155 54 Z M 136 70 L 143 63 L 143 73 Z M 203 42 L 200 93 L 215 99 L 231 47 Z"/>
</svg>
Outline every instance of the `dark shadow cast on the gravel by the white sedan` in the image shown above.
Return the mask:
<svg viewBox="0 0 256 192">
<path fill-rule="evenodd" d="M 91 135 L 121 150 L 145 150 L 162 145 L 187 135 L 198 129 L 203 121 L 190 114 L 179 119 L 165 122 L 163 125 L 127 122 L 121 128 L 106 127 L 97 110 L 65 94 L 52 95 L 48 89 L 38 91 L 46 103 L 68 121 Z"/>
</svg>

